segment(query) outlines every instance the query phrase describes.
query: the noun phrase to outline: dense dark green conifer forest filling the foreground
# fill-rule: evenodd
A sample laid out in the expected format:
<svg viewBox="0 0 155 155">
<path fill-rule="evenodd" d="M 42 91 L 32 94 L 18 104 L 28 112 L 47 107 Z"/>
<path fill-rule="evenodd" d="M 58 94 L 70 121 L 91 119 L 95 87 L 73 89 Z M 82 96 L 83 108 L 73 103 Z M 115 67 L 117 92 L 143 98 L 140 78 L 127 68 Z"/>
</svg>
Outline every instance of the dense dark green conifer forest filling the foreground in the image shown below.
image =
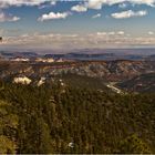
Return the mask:
<svg viewBox="0 0 155 155">
<path fill-rule="evenodd" d="M 0 83 L 0 153 L 155 153 L 155 94 Z"/>
</svg>

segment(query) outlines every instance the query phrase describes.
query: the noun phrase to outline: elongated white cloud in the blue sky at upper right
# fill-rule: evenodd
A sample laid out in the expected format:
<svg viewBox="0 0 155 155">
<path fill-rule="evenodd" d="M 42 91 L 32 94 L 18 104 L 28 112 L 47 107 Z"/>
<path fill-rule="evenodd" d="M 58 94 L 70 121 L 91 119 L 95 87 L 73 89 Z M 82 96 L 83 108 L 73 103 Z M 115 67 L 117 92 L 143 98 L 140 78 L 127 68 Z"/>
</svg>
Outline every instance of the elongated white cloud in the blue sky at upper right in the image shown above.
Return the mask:
<svg viewBox="0 0 155 155">
<path fill-rule="evenodd" d="M 127 11 L 112 13 L 112 18 L 127 19 L 127 18 L 133 18 L 133 17 L 144 17 L 146 14 L 147 14 L 146 10 L 141 10 L 141 11 L 135 11 L 135 12 L 133 10 L 127 10 Z"/>
</svg>

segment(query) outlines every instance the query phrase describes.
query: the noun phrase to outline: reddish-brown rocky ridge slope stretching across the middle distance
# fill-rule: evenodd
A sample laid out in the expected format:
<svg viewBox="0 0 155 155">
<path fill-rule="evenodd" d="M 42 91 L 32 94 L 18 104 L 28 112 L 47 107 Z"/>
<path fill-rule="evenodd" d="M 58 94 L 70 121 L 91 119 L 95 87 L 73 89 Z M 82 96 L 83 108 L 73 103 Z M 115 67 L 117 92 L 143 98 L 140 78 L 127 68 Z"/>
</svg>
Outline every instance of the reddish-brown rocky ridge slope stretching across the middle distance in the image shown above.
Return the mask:
<svg viewBox="0 0 155 155">
<path fill-rule="evenodd" d="M 76 74 L 102 78 L 108 81 L 122 81 L 133 76 L 155 72 L 155 62 L 145 61 L 86 61 L 63 63 L 0 62 L 0 79 L 14 76 L 52 78 L 61 74 Z"/>
</svg>

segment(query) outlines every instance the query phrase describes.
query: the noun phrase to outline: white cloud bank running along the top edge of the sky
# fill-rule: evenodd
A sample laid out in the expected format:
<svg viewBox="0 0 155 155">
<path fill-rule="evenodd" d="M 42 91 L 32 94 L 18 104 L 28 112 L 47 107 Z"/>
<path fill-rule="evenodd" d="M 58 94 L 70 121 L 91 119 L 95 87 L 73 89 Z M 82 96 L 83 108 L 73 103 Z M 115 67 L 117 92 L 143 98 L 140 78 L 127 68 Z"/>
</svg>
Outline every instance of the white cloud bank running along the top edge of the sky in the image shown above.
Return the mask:
<svg viewBox="0 0 155 155">
<path fill-rule="evenodd" d="M 44 2 L 49 2 L 51 4 L 55 4 L 56 1 L 61 0 L 0 0 L 0 8 L 7 8 L 7 7 L 20 7 L 20 6 L 40 6 Z M 68 0 L 64 0 L 68 1 Z M 69 2 L 72 0 L 69 0 Z M 73 0 L 74 1 L 74 0 Z M 133 4 L 146 4 L 151 7 L 155 7 L 155 0 L 80 0 L 83 1 L 84 4 L 79 4 L 78 10 L 86 10 L 89 9 L 101 9 L 103 6 L 108 4 L 116 4 L 116 3 L 124 3 L 130 2 Z M 82 9 L 83 7 L 83 9 Z"/>
</svg>

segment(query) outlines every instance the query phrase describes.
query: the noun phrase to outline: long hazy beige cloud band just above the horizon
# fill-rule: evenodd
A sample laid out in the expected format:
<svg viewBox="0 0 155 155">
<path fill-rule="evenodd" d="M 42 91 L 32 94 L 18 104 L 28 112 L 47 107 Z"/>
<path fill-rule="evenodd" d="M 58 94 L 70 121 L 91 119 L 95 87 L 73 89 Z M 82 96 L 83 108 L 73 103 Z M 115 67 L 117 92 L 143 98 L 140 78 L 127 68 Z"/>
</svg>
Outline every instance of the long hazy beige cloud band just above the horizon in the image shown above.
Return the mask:
<svg viewBox="0 0 155 155">
<path fill-rule="evenodd" d="M 118 34 L 122 33 L 122 34 Z M 60 34 L 60 33 L 34 33 L 19 37 L 6 37 L 1 46 L 11 49 L 81 49 L 81 48 L 128 48 L 141 45 L 155 45 L 155 38 L 132 37 L 123 31 L 96 32 L 90 34 Z"/>
</svg>

